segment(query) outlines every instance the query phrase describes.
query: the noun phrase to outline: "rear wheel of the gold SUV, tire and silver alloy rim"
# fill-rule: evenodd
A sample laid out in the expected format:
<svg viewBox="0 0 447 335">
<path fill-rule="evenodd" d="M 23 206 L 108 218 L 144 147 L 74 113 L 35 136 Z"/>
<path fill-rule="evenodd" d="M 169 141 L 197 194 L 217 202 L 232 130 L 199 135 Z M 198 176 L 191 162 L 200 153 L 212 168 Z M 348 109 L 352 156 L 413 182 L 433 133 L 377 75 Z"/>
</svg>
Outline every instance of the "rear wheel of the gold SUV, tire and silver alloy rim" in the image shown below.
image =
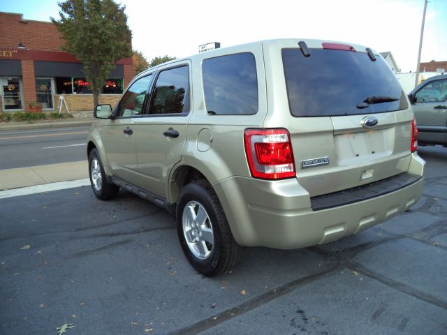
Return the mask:
<svg viewBox="0 0 447 335">
<path fill-rule="evenodd" d="M 212 186 L 187 184 L 177 202 L 177 234 L 186 258 L 205 276 L 232 271 L 244 248 L 236 243 Z"/>
</svg>

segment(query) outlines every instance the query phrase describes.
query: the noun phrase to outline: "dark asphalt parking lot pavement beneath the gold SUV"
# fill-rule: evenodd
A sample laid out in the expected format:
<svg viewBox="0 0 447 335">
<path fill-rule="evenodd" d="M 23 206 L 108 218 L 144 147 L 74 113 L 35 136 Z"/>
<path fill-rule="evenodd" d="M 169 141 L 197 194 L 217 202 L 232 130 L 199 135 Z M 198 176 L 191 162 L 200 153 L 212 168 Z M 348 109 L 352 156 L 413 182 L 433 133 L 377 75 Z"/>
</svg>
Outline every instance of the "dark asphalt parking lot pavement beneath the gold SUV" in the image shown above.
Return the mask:
<svg viewBox="0 0 447 335">
<path fill-rule="evenodd" d="M 412 211 L 340 241 L 189 266 L 166 211 L 89 186 L 0 200 L 0 334 L 447 334 L 447 149 Z"/>
</svg>

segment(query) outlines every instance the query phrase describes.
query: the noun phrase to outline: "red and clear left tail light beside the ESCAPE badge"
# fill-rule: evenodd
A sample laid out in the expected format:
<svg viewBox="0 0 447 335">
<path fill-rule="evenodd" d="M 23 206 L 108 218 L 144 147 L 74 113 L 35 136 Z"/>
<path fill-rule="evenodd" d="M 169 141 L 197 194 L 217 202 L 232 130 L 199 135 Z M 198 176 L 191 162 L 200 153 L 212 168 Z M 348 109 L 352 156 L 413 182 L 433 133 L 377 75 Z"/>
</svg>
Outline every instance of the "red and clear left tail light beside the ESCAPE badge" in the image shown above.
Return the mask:
<svg viewBox="0 0 447 335">
<path fill-rule="evenodd" d="M 244 132 L 244 141 L 253 177 L 295 177 L 291 136 L 286 129 L 247 129 Z"/>
</svg>

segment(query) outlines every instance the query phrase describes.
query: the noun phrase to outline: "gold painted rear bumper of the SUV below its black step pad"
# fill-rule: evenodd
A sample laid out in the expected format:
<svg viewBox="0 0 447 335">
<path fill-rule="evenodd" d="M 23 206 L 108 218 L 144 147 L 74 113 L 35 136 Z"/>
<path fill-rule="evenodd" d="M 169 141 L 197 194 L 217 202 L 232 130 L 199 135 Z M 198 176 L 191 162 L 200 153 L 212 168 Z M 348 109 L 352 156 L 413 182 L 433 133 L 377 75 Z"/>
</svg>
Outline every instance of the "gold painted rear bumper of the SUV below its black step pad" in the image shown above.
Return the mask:
<svg viewBox="0 0 447 335">
<path fill-rule="evenodd" d="M 302 248 L 356 234 L 409 209 L 422 194 L 424 165 L 413 154 L 406 184 L 366 200 L 316 211 L 309 193 L 296 179 L 233 177 L 215 184 L 214 189 L 239 244 Z"/>
</svg>

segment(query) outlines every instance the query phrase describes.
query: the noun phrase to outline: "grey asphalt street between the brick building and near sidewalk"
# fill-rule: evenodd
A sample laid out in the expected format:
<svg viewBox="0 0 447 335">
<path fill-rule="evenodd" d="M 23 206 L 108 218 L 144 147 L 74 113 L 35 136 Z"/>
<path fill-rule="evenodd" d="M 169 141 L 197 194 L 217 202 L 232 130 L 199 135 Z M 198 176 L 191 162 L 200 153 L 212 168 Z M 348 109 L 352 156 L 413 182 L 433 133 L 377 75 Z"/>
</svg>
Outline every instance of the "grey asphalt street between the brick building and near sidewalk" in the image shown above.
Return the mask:
<svg viewBox="0 0 447 335">
<path fill-rule="evenodd" d="M 88 126 L 77 126 L 2 131 L 0 170 L 86 160 L 88 129 Z"/>
</svg>

